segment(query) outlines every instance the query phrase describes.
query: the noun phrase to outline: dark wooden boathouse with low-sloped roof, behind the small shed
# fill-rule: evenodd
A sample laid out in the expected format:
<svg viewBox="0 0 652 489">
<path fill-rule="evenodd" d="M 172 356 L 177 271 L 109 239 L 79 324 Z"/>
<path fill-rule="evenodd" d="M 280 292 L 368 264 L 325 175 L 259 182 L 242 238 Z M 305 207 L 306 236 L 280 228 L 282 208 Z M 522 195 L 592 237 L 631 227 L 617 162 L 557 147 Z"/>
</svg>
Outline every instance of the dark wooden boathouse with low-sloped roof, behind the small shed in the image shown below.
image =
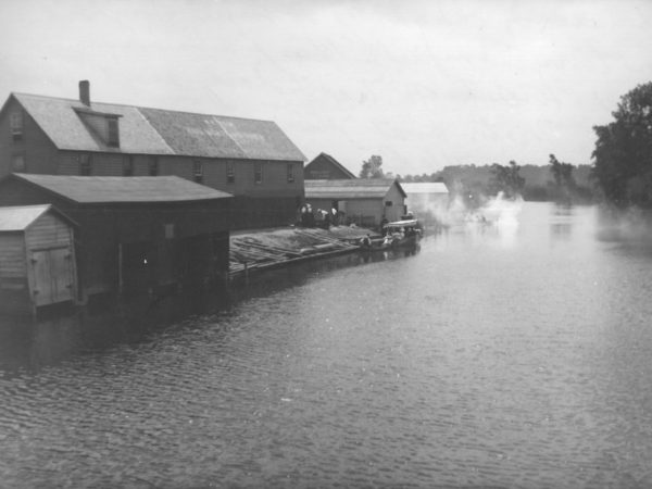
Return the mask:
<svg viewBox="0 0 652 489">
<path fill-rule="evenodd" d="M 80 302 L 225 279 L 230 201 L 176 176 L 12 174 L 0 180 L 0 205 L 52 204 L 77 223 Z"/>
</svg>

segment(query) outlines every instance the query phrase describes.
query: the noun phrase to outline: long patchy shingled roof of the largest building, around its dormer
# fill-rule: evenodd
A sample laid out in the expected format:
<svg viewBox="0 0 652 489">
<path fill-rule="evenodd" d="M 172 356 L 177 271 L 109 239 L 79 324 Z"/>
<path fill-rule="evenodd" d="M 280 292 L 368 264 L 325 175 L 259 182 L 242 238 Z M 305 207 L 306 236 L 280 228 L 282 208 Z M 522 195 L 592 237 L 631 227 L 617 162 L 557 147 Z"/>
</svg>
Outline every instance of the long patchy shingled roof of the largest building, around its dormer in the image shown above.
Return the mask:
<svg viewBox="0 0 652 489">
<path fill-rule="evenodd" d="M 305 161 L 305 156 L 272 121 L 226 117 L 115 103 L 12 93 L 61 150 L 129 154 Z M 120 148 L 106 146 L 77 113 L 120 117 Z"/>
</svg>

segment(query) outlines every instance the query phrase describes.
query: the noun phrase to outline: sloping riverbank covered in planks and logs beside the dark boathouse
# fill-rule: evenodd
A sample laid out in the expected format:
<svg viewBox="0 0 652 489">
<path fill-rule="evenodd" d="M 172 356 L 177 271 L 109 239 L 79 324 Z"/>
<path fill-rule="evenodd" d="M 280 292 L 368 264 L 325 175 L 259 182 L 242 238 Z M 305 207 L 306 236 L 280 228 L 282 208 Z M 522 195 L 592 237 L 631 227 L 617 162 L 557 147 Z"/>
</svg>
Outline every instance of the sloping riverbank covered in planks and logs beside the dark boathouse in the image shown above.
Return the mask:
<svg viewBox="0 0 652 489">
<path fill-rule="evenodd" d="M 380 236 L 367 228 L 350 226 L 234 231 L 229 247 L 229 279 L 290 263 L 353 252 L 360 249 L 360 240 L 367 234 Z"/>
</svg>

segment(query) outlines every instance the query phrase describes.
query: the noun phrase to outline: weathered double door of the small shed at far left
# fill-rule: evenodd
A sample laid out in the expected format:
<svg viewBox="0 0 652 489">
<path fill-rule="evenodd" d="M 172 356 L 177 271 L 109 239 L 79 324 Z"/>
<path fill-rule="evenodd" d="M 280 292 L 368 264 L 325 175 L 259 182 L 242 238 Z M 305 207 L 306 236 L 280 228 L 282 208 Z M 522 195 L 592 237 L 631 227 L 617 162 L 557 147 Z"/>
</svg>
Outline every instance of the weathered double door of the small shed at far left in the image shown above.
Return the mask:
<svg viewBox="0 0 652 489">
<path fill-rule="evenodd" d="M 67 248 L 39 250 L 32 253 L 34 303 L 47 305 L 73 300 L 73 256 Z"/>
</svg>

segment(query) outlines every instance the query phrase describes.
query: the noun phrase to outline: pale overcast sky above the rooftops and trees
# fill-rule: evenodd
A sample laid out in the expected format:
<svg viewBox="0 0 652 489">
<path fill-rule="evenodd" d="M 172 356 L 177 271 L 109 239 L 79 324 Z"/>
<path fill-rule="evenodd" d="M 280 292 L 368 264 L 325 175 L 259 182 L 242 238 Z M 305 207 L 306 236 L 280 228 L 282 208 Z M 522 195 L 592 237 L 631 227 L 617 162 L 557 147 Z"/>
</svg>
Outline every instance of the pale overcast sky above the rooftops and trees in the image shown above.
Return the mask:
<svg viewBox="0 0 652 489">
<path fill-rule="evenodd" d="M 275 121 L 402 175 L 590 163 L 652 80 L 652 1 L 0 0 L 11 91 Z"/>
</svg>

